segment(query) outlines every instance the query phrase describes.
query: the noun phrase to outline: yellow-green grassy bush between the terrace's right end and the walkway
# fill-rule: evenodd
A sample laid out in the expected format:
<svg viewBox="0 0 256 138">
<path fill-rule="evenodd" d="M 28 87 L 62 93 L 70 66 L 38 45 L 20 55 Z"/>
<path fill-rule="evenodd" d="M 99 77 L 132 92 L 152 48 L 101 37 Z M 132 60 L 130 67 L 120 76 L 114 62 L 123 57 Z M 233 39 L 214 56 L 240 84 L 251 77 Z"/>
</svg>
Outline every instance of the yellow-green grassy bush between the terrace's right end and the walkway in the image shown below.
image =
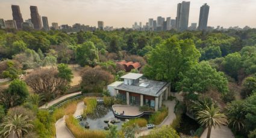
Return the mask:
<svg viewBox="0 0 256 138">
<path fill-rule="evenodd" d="M 154 124 L 154 125 L 159 125 L 163 120 L 166 118 L 168 115 L 168 108 L 167 107 L 162 107 L 161 110 L 158 110 L 155 112 L 153 115 L 150 116 L 149 122 Z"/>
</svg>

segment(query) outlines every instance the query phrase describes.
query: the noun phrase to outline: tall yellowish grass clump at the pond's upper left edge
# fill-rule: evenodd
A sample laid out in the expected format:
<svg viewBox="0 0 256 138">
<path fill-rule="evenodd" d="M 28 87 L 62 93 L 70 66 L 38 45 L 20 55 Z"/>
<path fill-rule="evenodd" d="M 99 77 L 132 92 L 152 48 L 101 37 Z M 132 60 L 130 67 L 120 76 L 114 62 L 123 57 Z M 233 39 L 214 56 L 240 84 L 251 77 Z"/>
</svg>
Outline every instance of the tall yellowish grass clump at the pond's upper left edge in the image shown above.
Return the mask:
<svg viewBox="0 0 256 138">
<path fill-rule="evenodd" d="M 84 109 L 83 117 L 86 118 L 87 115 L 92 114 L 96 109 L 96 106 L 97 106 L 96 97 L 84 98 L 84 105 L 86 105 L 86 109 Z"/>
</svg>

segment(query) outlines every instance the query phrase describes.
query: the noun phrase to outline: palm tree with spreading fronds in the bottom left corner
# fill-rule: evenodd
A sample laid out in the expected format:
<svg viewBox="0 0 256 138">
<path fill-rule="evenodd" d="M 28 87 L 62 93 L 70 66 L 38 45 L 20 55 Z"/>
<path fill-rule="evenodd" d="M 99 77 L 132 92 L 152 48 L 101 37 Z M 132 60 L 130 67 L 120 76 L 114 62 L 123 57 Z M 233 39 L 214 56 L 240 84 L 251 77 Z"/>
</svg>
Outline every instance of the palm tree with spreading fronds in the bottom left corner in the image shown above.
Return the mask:
<svg viewBox="0 0 256 138">
<path fill-rule="evenodd" d="M 4 122 L 0 125 L 2 128 L 1 134 L 3 137 L 8 137 L 11 133 L 16 134 L 18 138 L 22 137 L 22 134 L 28 133 L 28 130 L 33 128 L 31 119 L 28 116 L 14 115 L 8 116 L 4 119 Z"/>
</svg>

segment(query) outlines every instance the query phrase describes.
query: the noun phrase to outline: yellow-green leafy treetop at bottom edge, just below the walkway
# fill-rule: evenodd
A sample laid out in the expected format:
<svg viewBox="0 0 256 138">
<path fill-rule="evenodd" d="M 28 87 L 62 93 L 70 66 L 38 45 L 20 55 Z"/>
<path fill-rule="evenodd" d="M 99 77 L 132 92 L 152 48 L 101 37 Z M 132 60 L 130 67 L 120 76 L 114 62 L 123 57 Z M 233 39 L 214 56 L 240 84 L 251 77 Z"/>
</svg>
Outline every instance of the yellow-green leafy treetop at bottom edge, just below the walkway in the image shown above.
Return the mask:
<svg viewBox="0 0 256 138">
<path fill-rule="evenodd" d="M 164 125 L 161 128 L 155 128 L 149 133 L 150 138 L 157 138 L 157 137 L 163 137 L 163 138 L 180 138 L 178 133 L 170 126 Z"/>
</svg>

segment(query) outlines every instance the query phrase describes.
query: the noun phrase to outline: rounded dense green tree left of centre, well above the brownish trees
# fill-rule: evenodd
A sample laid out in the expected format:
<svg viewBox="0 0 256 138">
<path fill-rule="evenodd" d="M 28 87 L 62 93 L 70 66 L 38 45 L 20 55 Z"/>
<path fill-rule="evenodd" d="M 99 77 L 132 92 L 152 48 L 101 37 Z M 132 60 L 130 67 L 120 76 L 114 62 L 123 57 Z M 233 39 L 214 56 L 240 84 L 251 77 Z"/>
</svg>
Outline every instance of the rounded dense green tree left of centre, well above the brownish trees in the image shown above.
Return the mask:
<svg viewBox="0 0 256 138">
<path fill-rule="evenodd" d="M 76 61 L 81 67 L 94 67 L 99 61 L 98 50 L 91 41 L 87 41 L 76 48 Z"/>
</svg>

